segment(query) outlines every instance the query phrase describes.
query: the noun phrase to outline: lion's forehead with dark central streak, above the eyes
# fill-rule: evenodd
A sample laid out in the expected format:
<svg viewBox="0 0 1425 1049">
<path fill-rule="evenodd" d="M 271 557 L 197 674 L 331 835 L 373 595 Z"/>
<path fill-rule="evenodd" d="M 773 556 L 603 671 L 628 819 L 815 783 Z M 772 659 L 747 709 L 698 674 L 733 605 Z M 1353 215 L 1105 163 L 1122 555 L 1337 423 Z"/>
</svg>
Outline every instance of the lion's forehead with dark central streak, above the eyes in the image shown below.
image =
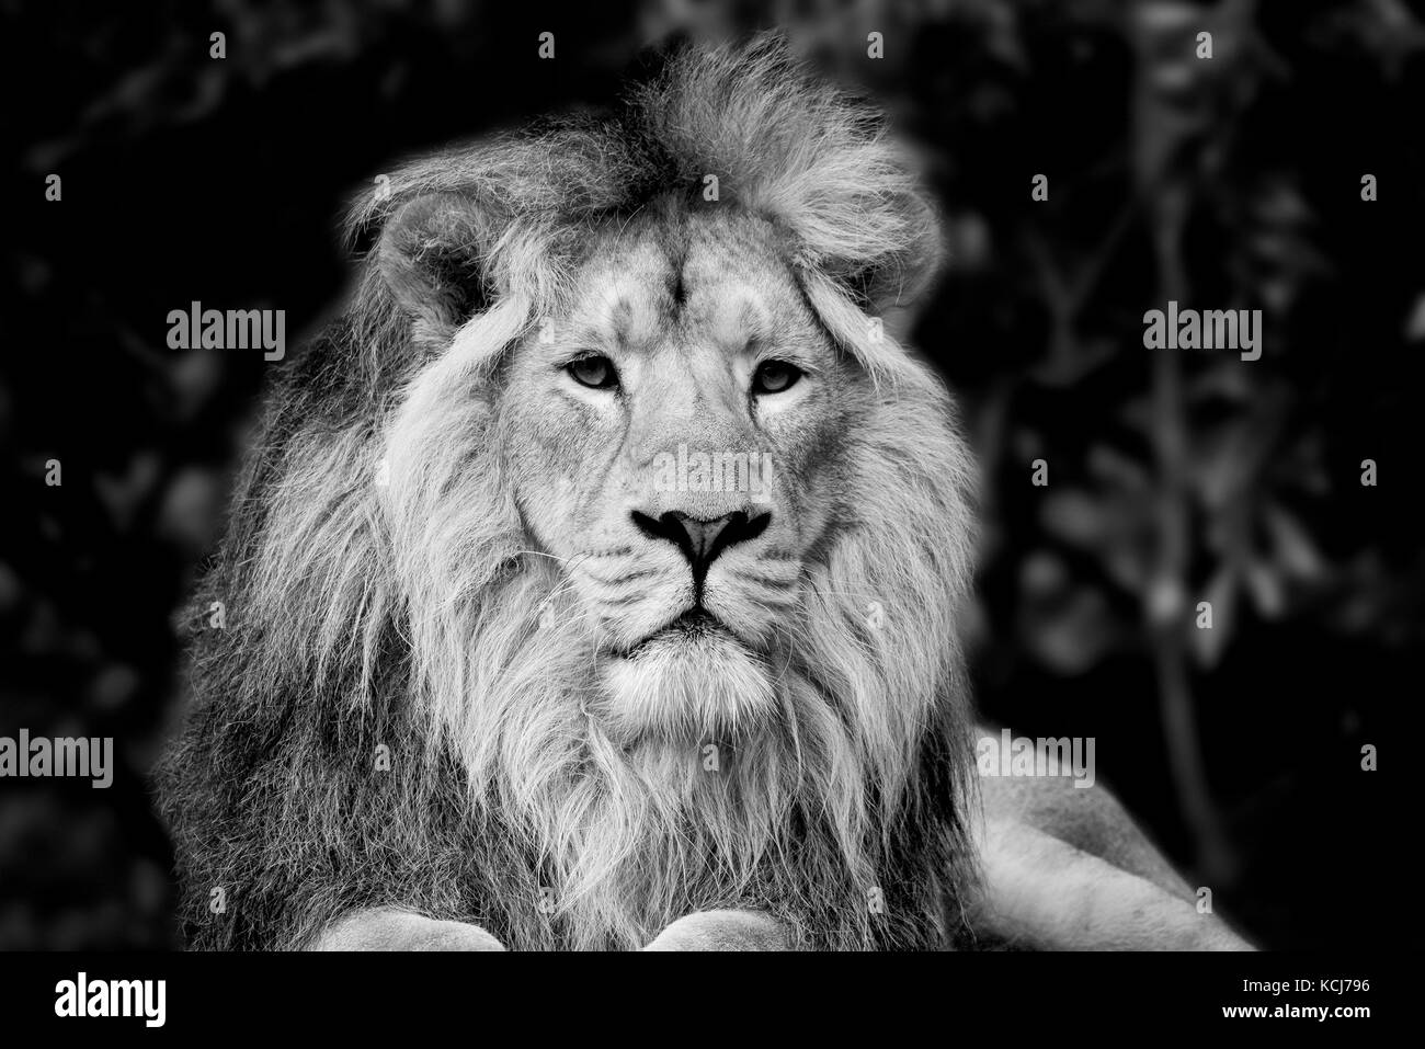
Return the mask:
<svg viewBox="0 0 1425 1049">
<path fill-rule="evenodd" d="M 569 319 L 631 352 L 674 335 L 737 352 L 809 316 L 767 224 L 683 215 L 598 234 Z"/>
</svg>

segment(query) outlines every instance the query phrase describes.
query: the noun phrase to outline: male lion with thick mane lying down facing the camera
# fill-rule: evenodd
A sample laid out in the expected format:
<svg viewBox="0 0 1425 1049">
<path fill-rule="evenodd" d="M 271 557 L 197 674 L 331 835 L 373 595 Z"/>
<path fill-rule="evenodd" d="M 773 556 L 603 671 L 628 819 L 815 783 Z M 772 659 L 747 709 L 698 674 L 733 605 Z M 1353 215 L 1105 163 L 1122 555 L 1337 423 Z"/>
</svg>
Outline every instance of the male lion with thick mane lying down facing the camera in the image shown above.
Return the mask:
<svg viewBox="0 0 1425 1049">
<path fill-rule="evenodd" d="M 976 777 L 879 114 L 760 37 L 379 181 L 195 599 L 191 946 L 1244 946 L 1102 788 Z"/>
</svg>

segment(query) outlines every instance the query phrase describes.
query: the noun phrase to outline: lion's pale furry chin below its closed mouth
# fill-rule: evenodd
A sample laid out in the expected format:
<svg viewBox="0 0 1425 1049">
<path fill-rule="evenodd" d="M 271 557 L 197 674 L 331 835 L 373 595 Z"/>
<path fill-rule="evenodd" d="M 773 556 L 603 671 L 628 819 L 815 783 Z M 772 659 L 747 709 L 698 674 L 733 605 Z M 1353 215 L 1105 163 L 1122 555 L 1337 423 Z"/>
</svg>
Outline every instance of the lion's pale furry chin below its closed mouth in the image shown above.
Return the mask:
<svg viewBox="0 0 1425 1049">
<path fill-rule="evenodd" d="M 591 713 L 624 745 L 742 738 L 777 707 L 767 664 L 721 630 L 668 631 L 631 654 L 608 657 L 601 693 Z"/>
</svg>

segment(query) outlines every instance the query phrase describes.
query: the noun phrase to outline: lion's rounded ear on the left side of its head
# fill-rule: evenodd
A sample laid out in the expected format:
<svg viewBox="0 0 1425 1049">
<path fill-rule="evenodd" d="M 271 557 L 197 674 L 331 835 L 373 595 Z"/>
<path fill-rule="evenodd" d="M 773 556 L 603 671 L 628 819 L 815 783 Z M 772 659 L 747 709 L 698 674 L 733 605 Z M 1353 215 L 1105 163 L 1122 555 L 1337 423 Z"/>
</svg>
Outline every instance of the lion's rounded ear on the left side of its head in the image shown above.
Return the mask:
<svg viewBox="0 0 1425 1049">
<path fill-rule="evenodd" d="M 376 245 L 376 267 L 396 301 L 439 332 L 459 328 L 489 298 L 490 222 L 469 197 L 435 192 L 399 205 Z"/>
</svg>

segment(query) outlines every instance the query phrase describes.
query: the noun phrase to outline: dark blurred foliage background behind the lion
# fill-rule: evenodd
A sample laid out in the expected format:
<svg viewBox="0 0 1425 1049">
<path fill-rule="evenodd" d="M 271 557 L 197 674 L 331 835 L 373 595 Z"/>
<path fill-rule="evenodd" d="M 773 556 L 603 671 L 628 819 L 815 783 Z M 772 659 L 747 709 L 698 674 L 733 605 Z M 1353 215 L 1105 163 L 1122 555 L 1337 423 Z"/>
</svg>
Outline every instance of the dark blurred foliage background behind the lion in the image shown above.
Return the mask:
<svg viewBox="0 0 1425 1049">
<path fill-rule="evenodd" d="M 120 768 L 107 791 L 0 780 L 0 948 L 175 944 L 144 777 L 178 703 L 174 609 L 274 365 L 168 349 L 168 311 L 285 309 L 292 343 L 339 308 L 343 202 L 396 160 L 608 103 L 644 48 L 771 26 L 889 110 L 945 205 L 915 341 L 988 480 L 982 708 L 1096 737 L 1100 778 L 1263 945 L 1399 942 L 1419 4 L 4 0 L 0 734 L 113 735 Z M 1263 358 L 1144 349 L 1168 298 L 1263 309 Z"/>
</svg>

